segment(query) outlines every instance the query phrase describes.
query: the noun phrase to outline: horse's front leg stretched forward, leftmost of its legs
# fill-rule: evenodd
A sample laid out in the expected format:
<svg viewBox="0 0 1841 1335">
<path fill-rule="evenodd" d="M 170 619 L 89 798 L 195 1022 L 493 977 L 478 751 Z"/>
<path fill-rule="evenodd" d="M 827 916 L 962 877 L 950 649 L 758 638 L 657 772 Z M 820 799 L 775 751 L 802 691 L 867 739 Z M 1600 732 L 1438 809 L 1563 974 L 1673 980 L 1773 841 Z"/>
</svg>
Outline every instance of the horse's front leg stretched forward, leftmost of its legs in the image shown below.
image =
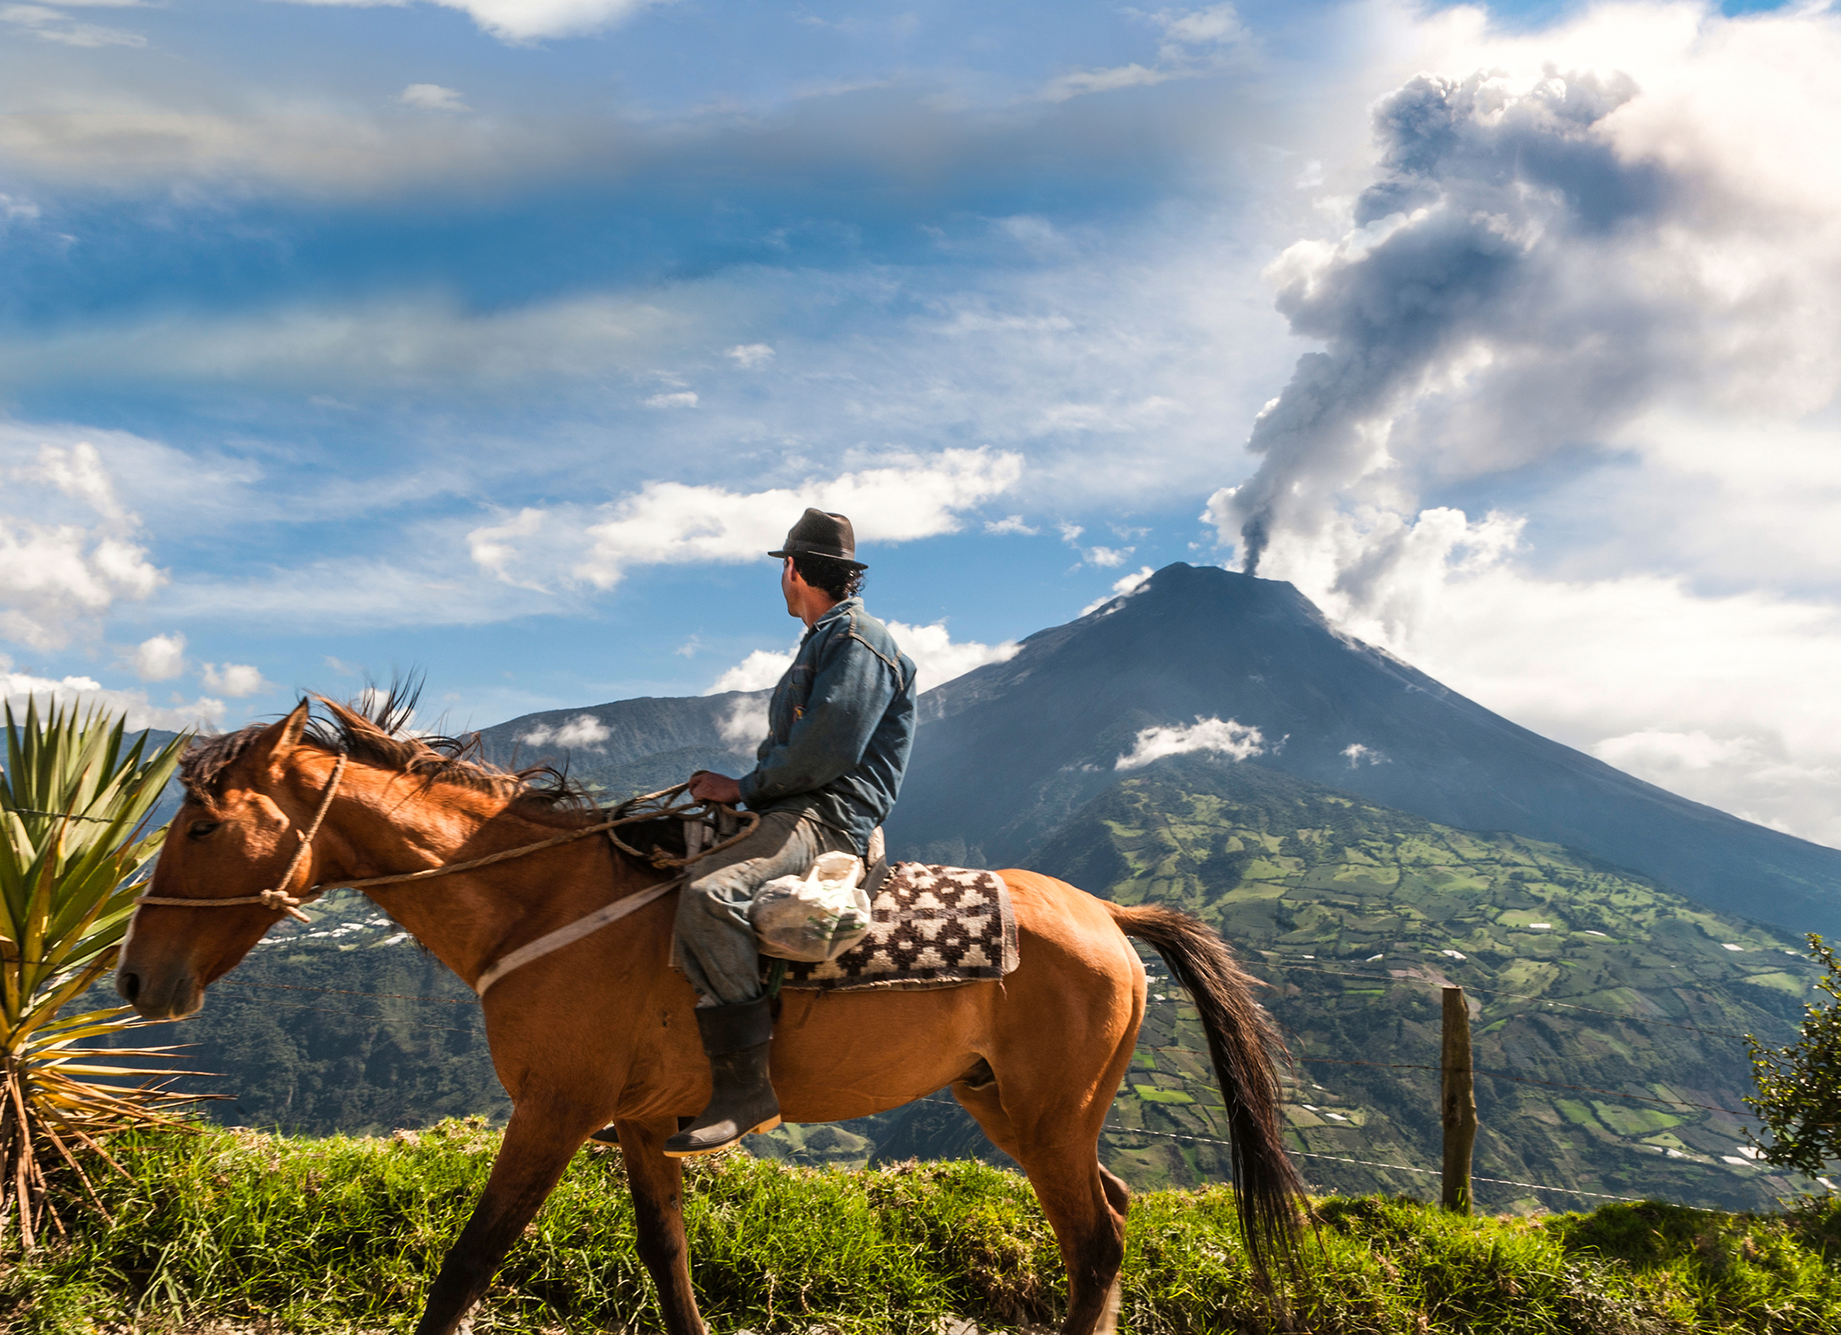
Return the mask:
<svg viewBox="0 0 1841 1335">
<path fill-rule="evenodd" d="M 447 1250 L 442 1272 L 429 1289 L 416 1335 L 453 1335 L 479 1296 L 492 1283 L 499 1261 L 543 1206 L 556 1180 L 569 1167 L 598 1118 L 573 1116 L 573 1109 L 543 1099 L 519 1099 L 504 1127 L 504 1142 L 492 1162 L 492 1177 L 473 1206 L 460 1239 Z"/>
</svg>

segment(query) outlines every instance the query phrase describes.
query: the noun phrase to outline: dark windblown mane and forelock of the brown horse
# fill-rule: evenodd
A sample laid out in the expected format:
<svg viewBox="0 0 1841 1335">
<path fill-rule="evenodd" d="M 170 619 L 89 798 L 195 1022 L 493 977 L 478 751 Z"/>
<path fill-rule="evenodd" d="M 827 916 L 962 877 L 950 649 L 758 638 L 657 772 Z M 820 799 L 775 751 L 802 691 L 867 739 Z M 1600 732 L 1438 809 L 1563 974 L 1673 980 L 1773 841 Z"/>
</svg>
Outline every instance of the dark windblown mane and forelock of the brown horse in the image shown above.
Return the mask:
<svg viewBox="0 0 1841 1335">
<path fill-rule="evenodd" d="M 449 783 L 550 812 L 595 812 L 595 797 L 552 764 L 504 770 L 481 757 L 479 733 L 442 737 L 411 731 L 420 692 L 418 681 L 392 681 L 388 691 L 366 691 L 348 703 L 317 696 L 328 716 L 311 714 L 302 742 L 346 751 L 353 760 L 383 770 L 399 770 L 422 779 L 423 786 Z M 250 724 L 197 738 L 179 760 L 180 784 L 193 799 L 210 803 L 223 790 L 225 772 L 265 729 L 267 724 Z"/>
</svg>

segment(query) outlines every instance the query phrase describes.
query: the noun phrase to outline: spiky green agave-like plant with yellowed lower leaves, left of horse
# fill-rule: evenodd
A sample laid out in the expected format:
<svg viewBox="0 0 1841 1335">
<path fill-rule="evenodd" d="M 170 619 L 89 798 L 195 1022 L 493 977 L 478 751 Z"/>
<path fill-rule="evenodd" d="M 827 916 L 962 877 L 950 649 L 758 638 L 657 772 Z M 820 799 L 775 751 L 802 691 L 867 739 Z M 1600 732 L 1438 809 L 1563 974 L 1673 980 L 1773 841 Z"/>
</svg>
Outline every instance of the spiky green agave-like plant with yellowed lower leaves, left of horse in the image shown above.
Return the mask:
<svg viewBox="0 0 1841 1335">
<path fill-rule="evenodd" d="M 99 1136 L 173 1123 L 169 1109 L 186 1101 L 166 1088 L 175 1074 L 169 1061 L 145 1064 L 169 1059 L 169 1050 L 96 1046 L 140 1026 L 129 1007 L 61 1015 L 114 967 L 140 893 L 136 875 L 166 834 L 149 830 L 147 821 L 186 740 L 175 738 L 149 757 L 145 737 L 125 744 L 123 720 L 99 709 L 79 714 L 53 705 L 41 718 L 37 703 L 28 702 L 24 720 L 15 720 L 6 707 L 0 1237 L 17 1219 L 18 1241 L 28 1248 L 46 1213 L 64 1230 L 48 1167 L 55 1171 L 61 1160 L 96 1201 L 77 1151 L 107 1160 Z"/>
</svg>

